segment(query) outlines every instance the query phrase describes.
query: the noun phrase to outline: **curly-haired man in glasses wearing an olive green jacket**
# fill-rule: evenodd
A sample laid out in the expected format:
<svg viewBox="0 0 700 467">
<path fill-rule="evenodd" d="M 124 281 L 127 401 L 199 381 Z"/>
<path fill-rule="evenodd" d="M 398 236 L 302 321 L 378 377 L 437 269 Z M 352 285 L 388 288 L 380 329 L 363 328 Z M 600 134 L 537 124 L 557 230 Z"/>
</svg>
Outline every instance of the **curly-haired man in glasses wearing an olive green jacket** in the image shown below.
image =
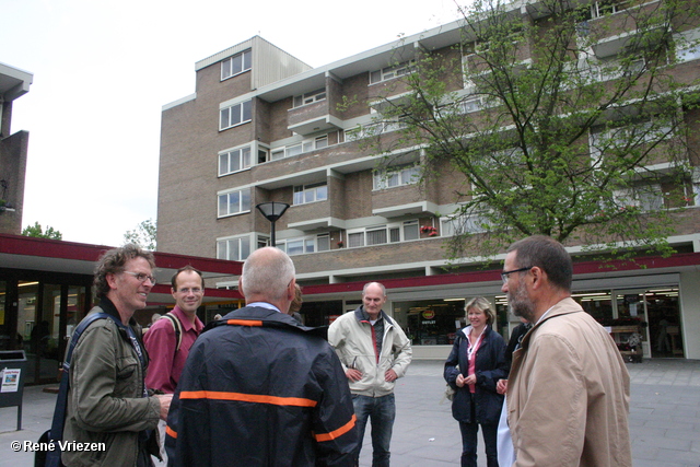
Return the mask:
<svg viewBox="0 0 700 467">
<path fill-rule="evenodd" d="M 153 287 L 153 254 L 135 245 L 106 252 L 95 269 L 106 313 L 81 334 L 70 362 L 63 441 L 104 443 L 105 451 L 65 451 L 67 466 L 151 466 L 158 454 L 153 431 L 165 419 L 172 395 L 148 396 L 148 353 L 133 319 Z"/>
</svg>

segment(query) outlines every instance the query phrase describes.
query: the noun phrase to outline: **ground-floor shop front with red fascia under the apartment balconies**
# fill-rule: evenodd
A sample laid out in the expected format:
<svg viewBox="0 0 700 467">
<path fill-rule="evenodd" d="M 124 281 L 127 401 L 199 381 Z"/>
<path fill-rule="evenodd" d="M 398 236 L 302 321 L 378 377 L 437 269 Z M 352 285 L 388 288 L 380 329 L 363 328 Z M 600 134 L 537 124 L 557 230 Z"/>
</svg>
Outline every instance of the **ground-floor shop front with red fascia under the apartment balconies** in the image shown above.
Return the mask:
<svg viewBox="0 0 700 467">
<path fill-rule="evenodd" d="M 574 264 L 572 297 L 610 332 L 628 361 L 700 359 L 700 254 L 627 262 Z M 520 324 L 501 292 L 500 269 L 422 278 L 387 279 L 386 311 L 405 329 L 415 359 L 445 359 L 455 332 L 466 326 L 464 306 L 488 299 L 493 328 L 505 339 Z M 302 315 L 329 324 L 361 302 L 362 282 L 304 288 Z M 311 313 L 311 315 L 310 315 Z"/>
</svg>

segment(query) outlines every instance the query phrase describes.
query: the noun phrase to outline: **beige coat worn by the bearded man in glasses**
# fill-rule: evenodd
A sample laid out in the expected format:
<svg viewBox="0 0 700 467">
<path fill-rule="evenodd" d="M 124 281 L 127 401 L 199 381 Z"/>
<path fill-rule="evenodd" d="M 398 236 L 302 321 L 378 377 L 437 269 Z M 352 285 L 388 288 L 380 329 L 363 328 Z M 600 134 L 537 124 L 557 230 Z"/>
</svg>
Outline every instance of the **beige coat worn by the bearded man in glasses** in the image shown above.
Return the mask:
<svg viewBox="0 0 700 467">
<path fill-rule="evenodd" d="M 514 466 L 632 465 L 627 367 L 610 335 L 573 299 L 523 338 L 506 400 Z"/>
</svg>

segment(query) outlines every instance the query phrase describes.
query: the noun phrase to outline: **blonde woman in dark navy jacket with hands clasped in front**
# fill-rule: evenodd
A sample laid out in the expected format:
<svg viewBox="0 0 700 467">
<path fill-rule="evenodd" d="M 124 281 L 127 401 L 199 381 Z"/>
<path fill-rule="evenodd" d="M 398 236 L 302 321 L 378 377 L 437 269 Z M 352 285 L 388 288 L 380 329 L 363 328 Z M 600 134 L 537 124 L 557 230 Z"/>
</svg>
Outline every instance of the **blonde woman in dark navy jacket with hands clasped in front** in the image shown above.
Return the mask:
<svg viewBox="0 0 700 467">
<path fill-rule="evenodd" d="M 495 316 L 483 297 L 466 305 L 469 326 L 457 331 L 445 362 L 445 381 L 455 389 L 452 416 L 462 432 L 462 466 L 477 465 L 477 432 L 481 425 L 488 467 L 498 467 L 497 430 L 503 396 L 495 392 L 508 377 L 505 341 L 491 329 Z"/>
</svg>

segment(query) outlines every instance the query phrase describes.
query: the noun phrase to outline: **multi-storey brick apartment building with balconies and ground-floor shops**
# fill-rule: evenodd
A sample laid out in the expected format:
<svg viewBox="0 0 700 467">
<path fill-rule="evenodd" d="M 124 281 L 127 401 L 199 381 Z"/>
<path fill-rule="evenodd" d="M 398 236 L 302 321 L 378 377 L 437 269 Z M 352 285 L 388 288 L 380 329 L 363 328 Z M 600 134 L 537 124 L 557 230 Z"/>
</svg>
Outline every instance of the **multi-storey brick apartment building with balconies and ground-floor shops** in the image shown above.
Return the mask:
<svg viewBox="0 0 700 467">
<path fill-rule="evenodd" d="M 628 7 L 593 3 L 590 21 Z M 527 21 L 536 10 L 537 2 L 523 2 L 510 12 Z M 454 47 L 463 26 L 446 24 L 319 68 L 259 36 L 198 61 L 195 93 L 163 107 L 159 250 L 245 260 L 270 244 L 270 222 L 256 206 L 282 202 L 289 209 L 275 222 L 275 243 L 296 266 L 306 324 L 328 324 L 353 310 L 362 284 L 377 280 L 387 287 L 385 310 L 411 337 L 418 358 L 447 354 L 462 326 L 464 301 L 475 295 L 495 304 L 498 328 L 506 334 L 498 266 L 485 269 L 465 260 L 446 268 L 451 261 L 443 246 L 453 235 L 451 213 L 464 176 L 441 166 L 418 183 L 422 148 L 397 148 L 387 163 L 364 143 L 384 106 L 400 103 L 409 92 L 401 77 L 413 72 L 413 60 L 431 54 L 468 60 Z M 615 57 L 631 34 L 621 28 L 611 28 L 594 52 Z M 699 31 L 678 34 L 695 38 Z M 676 52 L 682 61 L 674 72 L 690 85 L 700 75 L 700 52 Z M 458 95 L 469 83 L 459 69 L 453 71 L 446 91 Z M 688 121 L 697 120 L 693 112 L 686 110 Z M 400 126 L 400 118 L 382 121 L 384 141 L 396 143 L 393 135 Z M 648 358 L 700 358 L 695 343 L 700 342 L 700 215 L 695 209 L 700 178 L 693 177 L 690 173 L 688 208 L 679 211 L 669 238 L 676 255 L 617 261 L 605 269 L 583 256 L 576 259 L 574 296 L 602 323 L 643 323 L 639 330 Z M 665 191 L 658 187 L 657 202 Z M 571 252 L 580 255 L 581 246 Z M 231 277 L 209 285 L 236 283 Z"/>
</svg>

